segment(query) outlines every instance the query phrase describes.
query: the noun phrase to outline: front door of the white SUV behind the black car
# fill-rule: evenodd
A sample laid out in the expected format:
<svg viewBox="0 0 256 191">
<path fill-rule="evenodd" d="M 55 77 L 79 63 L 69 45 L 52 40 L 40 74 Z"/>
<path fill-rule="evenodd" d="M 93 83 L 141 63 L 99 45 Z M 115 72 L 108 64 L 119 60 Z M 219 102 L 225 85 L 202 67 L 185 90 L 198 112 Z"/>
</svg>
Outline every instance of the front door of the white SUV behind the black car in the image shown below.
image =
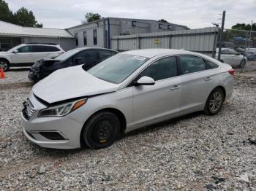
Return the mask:
<svg viewBox="0 0 256 191">
<path fill-rule="evenodd" d="M 12 63 L 17 66 L 31 66 L 34 63 L 32 48 L 30 45 L 19 47 L 17 53 L 12 52 Z M 20 64 L 19 64 L 20 63 Z"/>
</svg>

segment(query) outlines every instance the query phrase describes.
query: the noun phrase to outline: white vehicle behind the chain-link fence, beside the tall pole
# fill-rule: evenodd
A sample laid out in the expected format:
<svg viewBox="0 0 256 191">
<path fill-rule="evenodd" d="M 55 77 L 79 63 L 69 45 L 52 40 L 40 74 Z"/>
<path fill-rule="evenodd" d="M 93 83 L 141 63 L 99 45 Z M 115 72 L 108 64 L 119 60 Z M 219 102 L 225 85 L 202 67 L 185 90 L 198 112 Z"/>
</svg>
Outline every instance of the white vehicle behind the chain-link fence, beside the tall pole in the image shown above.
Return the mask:
<svg viewBox="0 0 256 191">
<path fill-rule="evenodd" d="M 219 48 L 216 49 L 216 59 L 218 58 L 218 52 Z M 247 59 L 243 55 L 240 55 L 238 52 L 236 52 L 236 50 L 233 50 L 231 48 L 222 48 L 222 52 L 220 54 L 220 61 L 222 63 L 227 63 L 231 66 L 244 67 Z"/>
</svg>

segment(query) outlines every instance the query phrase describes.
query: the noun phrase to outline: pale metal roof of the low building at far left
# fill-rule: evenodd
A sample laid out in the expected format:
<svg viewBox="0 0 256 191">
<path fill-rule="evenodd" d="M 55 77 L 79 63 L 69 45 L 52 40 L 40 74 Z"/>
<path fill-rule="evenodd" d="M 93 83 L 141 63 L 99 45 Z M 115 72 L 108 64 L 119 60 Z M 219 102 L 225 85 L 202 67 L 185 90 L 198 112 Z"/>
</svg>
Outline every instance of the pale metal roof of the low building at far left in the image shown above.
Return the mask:
<svg viewBox="0 0 256 191">
<path fill-rule="evenodd" d="M 23 27 L 0 20 L 0 36 L 34 36 L 74 38 L 68 31 L 56 28 Z"/>
</svg>

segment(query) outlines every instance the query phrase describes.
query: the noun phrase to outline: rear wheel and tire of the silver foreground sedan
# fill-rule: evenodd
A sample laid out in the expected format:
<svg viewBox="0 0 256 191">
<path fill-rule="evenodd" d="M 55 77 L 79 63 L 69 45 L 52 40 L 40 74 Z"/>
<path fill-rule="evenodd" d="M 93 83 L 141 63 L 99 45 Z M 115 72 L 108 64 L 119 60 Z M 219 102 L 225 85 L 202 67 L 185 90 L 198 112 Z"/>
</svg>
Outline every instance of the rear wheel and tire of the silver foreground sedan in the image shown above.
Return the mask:
<svg viewBox="0 0 256 191">
<path fill-rule="evenodd" d="M 208 115 L 217 114 L 222 109 L 225 96 L 223 90 L 219 87 L 215 88 L 207 98 L 204 113 Z"/>
</svg>

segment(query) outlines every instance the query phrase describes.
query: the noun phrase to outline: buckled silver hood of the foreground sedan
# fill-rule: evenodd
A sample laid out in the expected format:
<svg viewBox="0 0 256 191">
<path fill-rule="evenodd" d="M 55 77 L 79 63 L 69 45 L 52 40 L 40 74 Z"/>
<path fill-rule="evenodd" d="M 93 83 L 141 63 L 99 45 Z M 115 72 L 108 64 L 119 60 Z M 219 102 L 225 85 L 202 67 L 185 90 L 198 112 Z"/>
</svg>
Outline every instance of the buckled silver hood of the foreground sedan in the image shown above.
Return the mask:
<svg viewBox="0 0 256 191">
<path fill-rule="evenodd" d="M 82 69 L 73 66 L 59 69 L 34 85 L 34 95 L 52 104 L 71 98 L 110 93 L 118 90 L 118 85 L 92 76 Z"/>
</svg>

